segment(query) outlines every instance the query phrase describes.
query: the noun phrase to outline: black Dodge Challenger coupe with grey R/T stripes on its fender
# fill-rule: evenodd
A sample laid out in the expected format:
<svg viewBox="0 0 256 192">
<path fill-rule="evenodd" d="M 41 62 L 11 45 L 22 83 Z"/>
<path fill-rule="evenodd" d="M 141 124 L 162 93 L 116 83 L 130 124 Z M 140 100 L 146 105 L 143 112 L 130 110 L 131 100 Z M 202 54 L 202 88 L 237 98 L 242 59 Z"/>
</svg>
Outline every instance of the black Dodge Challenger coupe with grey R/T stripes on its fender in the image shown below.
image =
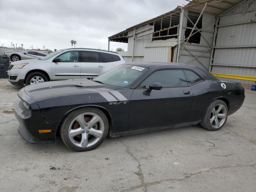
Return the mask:
<svg viewBox="0 0 256 192">
<path fill-rule="evenodd" d="M 128 63 L 94 78 L 22 88 L 14 103 L 19 134 L 30 143 L 56 134 L 76 151 L 116 137 L 199 124 L 222 128 L 244 102 L 244 88 L 201 68 L 175 63 Z"/>
</svg>

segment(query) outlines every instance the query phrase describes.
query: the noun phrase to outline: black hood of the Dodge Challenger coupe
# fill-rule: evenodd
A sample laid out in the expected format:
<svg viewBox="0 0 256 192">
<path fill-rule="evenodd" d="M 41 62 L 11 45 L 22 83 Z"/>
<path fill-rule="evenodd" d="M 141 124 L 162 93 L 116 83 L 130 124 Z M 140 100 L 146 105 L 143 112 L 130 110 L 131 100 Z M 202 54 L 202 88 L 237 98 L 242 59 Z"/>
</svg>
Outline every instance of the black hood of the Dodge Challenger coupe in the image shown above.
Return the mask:
<svg viewBox="0 0 256 192">
<path fill-rule="evenodd" d="M 51 81 L 24 87 L 26 94 L 35 101 L 66 95 L 101 92 L 115 89 L 117 89 L 117 87 L 107 86 L 88 79 Z"/>
</svg>

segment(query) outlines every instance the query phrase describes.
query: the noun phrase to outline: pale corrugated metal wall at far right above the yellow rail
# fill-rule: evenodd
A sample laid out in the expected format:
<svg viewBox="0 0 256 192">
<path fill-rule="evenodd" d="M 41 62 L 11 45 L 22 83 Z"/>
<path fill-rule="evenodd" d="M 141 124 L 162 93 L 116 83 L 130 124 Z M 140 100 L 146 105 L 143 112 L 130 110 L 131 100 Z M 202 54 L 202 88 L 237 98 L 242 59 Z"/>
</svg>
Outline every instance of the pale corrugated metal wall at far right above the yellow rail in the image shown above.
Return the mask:
<svg viewBox="0 0 256 192">
<path fill-rule="evenodd" d="M 248 8 L 254 11 L 241 12 L 247 6 L 248 4 L 242 4 L 232 14 L 220 17 L 212 72 L 256 76 L 256 4 L 253 3 Z M 252 22 L 249 22 L 250 20 Z M 241 22 L 248 23 L 241 24 Z M 223 26 L 228 24 L 236 25 Z M 246 48 L 246 46 L 251 47 Z M 234 79 L 232 81 L 253 83 Z"/>
</svg>

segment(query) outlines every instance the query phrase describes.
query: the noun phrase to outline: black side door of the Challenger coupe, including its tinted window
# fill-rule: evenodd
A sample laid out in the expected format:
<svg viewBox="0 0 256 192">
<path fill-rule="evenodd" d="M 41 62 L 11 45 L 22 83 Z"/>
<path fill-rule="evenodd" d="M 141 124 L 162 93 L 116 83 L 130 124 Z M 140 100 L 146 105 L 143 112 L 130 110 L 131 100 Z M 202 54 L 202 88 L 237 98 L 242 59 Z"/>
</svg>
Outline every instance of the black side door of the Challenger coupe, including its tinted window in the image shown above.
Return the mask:
<svg viewBox="0 0 256 192">
<path fill-rule="evenodd" d="M 150 83 L 159 82 L 162 90 L 145 92 Z M 193 93 L 183 70 L 158 70 L 132 93 L 129 130 L 163 127 L 188 122 Z"/>
</svg>

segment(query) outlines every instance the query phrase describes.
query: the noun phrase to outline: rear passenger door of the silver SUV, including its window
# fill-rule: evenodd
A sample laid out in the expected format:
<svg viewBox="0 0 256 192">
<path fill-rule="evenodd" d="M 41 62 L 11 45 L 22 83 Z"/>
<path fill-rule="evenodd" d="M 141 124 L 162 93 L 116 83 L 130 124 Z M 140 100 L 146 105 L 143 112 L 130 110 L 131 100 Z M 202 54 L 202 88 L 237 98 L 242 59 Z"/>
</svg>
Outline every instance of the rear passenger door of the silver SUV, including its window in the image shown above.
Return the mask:
<svg viewBox="0 0 256 192">
<path fill-rule="evenodd" d="M 81 51 L 81 77 L 96 77 L 104 72 L 104 63 L 98 52 Z"/>
</svg>

